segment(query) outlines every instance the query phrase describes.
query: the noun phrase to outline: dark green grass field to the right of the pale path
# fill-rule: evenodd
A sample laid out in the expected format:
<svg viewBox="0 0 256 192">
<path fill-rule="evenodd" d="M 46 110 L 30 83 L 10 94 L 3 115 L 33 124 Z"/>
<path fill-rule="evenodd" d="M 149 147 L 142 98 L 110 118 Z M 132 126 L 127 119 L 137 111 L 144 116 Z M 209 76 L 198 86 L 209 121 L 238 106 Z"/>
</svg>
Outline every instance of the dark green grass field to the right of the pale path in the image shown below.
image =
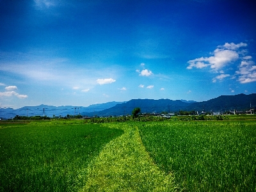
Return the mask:
<svg viewBox="0 0 256 192">
<path fill-rule="evenodd" d="M 255 129 L 255 121 L 139 126 L 150 156 L 185 191 L 255 191 Z"/>
</svg>

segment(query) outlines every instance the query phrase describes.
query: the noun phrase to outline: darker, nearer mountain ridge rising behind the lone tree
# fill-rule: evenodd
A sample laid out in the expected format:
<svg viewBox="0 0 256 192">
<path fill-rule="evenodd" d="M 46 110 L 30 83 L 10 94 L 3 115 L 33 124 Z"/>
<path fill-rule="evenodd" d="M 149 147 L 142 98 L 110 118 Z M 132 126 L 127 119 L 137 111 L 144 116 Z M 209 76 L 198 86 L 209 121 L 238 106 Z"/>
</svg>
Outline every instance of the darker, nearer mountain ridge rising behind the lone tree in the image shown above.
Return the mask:
<svg viewBox="0 0 256 192">
<path fill-rule="evenodd" d="M 203 102 L 182 102 L 170 99 L 132 99 L 123 104 L 117 104 L 113 108 L 98 111 L 97 113 L 86 113 L 87 116 L 109 116 L 127 115 L 134 108 L 141 108 L 141 113 L 161 113 L 177 111 L 244 111 L 256 106 L 256 93 L 245 95 L 221 95 L 215 99 Z"/>
</svg>

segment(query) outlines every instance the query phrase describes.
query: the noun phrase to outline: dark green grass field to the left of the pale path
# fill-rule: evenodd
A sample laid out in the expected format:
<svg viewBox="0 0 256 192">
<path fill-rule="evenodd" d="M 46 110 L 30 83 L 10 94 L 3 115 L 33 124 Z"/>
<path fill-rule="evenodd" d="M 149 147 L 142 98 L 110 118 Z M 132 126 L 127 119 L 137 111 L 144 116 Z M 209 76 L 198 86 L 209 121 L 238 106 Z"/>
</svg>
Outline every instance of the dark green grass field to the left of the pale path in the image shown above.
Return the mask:
<svg viewBox="0 0 256 192">
<path fill-rule="evenodd" d="M 88 164 L 124 132 L 70 121 L 33 124 L 0 124 L 0 191 L 78 191 Z"/>
</svg>

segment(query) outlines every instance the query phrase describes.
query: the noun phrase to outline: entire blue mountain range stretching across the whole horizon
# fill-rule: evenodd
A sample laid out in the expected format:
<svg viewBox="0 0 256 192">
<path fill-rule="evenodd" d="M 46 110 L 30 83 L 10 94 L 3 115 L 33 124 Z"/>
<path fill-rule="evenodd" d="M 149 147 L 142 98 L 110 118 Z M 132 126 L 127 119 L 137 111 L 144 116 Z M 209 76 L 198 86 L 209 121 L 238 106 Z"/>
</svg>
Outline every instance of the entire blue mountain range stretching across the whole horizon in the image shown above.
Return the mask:
<svg viewBox="0 0 256 192">
<path fill-rule="evenodd" d="M 245 111 L 256 107 L 256 93 L 250 95 L 221 95 L 207 101 L 196 102 L 193 100 L 170 99 L 132 99 L 127 102 L 107 102 L 83 106 L 26 106 L 19 109 L 0 108 L 0 118 L 13 118 L 19 116 L 119 116 L 131 115 L 134 108 L 140 108 L 141 113 L 174 113 L 177 111 Z"/>
</svg>

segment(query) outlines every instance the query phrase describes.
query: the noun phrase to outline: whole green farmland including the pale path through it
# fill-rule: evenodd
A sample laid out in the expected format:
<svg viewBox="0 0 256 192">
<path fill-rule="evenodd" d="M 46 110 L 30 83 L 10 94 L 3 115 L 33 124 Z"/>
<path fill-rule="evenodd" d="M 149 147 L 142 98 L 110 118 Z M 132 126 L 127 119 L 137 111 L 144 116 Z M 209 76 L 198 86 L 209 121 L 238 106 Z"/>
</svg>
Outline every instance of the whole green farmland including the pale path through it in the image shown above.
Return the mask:
<svg viewBox="0 0 256 192">
<path fill-rule="evenodd" d="M 255 120 L 0 122 L 0 191 L 255 191 Z"/>
</svg>

